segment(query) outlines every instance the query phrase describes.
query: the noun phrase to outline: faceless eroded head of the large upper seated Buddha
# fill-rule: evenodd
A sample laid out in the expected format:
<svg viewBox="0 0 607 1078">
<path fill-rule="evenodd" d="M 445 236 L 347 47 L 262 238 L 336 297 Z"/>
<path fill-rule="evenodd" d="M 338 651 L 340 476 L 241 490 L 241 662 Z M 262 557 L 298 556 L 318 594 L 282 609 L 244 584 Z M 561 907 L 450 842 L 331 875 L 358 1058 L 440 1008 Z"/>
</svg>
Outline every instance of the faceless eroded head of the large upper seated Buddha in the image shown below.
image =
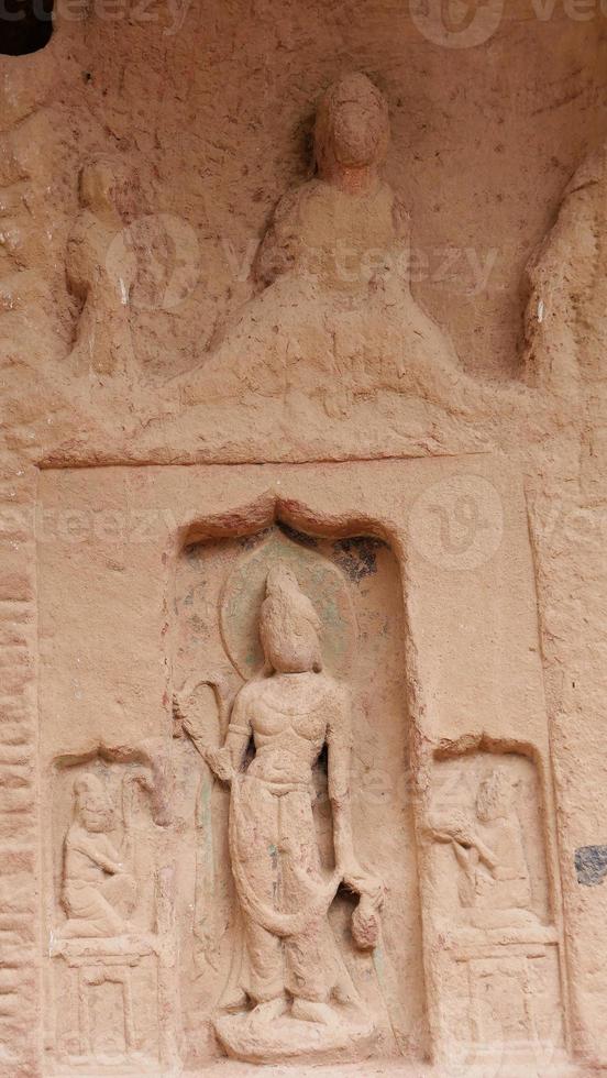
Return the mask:
<svg viewBox="0 0 607 1078">
<path fill-rule="evenodd" d="M 319 173 L 364 169 L 384 160 L 389 138 L 386 99 L 366 75 L 346 75 L 324 94 L 316 120 L 314 153 Z"/>
</svg>

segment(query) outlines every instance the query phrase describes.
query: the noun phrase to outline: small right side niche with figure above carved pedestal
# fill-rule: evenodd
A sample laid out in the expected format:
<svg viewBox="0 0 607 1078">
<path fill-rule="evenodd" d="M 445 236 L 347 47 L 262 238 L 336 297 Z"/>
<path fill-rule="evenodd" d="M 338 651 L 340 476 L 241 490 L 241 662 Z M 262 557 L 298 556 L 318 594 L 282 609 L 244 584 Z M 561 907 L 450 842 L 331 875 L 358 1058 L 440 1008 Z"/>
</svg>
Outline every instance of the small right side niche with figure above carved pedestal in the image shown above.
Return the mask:
<svg viewBox="0 0 607 1078">
<path fill-rule="evenodd" d="M 442 1038 L 538 1062 L 564 1050 L 562 939 L 540 783 L 516 752 L 437 760 L 423 822 L 424 916 L 443 941 Z"/>
</svg>

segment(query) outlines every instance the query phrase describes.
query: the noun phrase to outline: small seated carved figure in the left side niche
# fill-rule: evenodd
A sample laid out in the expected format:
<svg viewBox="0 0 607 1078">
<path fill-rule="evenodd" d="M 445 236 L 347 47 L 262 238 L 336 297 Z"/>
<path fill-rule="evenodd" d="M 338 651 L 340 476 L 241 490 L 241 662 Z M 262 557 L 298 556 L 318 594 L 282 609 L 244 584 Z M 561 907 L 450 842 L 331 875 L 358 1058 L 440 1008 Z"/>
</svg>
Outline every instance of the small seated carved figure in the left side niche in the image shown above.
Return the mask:
<svg viewBox="0 0 607 1078">
<path fill-rule="evenodd" d="M 108 832 L 114 826 L 113 806 L 97 776 L 74 783 L 74 821 L 64 844 L 62 902 L 68 920 L 62 936 L 117 936 L 136 899 L 136 882 Z M 125 853 L 128 825 L 125 828 Z"/>
</svg>

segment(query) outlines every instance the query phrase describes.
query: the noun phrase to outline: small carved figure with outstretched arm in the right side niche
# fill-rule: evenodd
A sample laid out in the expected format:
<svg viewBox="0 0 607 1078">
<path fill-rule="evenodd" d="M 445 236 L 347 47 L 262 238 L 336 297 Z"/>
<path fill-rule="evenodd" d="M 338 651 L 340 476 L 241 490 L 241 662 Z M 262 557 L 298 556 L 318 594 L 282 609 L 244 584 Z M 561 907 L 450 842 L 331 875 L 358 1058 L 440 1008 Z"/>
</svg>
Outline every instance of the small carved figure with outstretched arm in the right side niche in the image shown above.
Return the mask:
<svg viewBox="0 0 607 1078">
<path fill-rule="evenodd" d="M 473 923 L 532 916 L 531 883 L 516 807 L 518 782 L 496 768 L 476 794 L 475 816 L 451 814 L 431 824 L 435 840 L 451 843 L 461 869 L 459 893 L 462 906 L 471 909 Z"/>
</svg>

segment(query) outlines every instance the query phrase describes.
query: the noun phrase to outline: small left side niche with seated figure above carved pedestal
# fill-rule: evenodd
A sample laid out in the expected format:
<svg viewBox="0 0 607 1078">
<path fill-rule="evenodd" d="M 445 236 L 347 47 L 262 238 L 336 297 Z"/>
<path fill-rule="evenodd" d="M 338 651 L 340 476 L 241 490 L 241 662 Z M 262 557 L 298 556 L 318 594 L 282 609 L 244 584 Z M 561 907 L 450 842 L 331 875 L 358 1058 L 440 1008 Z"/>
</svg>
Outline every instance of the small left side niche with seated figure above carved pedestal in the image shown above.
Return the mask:
<svg viewBox="0 0 607 1078">
<path fill-rule="evenodd" d="M 175 1003 L 158 1008 L 176 999 L 165 791 L 153 761 L 120 755 L 133 762 L 93 754 L 53 773 L 48 1040 L 76 1071 L 177 1059 Z"/>
</svg>

